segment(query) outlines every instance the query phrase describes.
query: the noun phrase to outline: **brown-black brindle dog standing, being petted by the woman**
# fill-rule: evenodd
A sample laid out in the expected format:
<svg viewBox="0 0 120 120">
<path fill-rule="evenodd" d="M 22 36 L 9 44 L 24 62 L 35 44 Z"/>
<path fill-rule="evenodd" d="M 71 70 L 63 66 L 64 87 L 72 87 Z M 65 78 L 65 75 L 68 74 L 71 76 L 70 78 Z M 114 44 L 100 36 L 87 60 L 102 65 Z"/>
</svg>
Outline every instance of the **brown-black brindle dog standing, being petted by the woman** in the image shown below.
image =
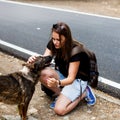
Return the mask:
<svg viewBox="0 0 120 120">
<path fill-rule="evenodd" d="M 39 56 L 32 64 L 25 63 L 18 72 L 0 75 L 0 102 L 17 104 L 21 120 L 27 119 L 28 106 L 40 72 L 50 65 L 51 60 L 51 56 Z"/>
</svg>

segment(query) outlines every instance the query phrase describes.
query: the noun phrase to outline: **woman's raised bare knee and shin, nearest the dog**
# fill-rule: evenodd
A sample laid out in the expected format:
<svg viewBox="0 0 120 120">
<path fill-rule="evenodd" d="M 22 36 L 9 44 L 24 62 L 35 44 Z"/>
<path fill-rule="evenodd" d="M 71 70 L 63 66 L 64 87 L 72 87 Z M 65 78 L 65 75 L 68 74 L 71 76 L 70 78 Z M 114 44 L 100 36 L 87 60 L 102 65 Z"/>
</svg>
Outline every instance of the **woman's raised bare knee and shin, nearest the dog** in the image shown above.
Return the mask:
<svg viewBox="0 0 120 120">
<path fill-rule="evenodd" d="M 60 91 L 61 91 L 60 88 L 58 88 L 58 87 L 48 87 L 47 78 L 49 78 L 49 77 L 51 77 L 51 78 L 53 77 L 56 80 L 59 80 L 59 75 L 57 74 L 57 72 L 50 67 L 46 67 L 44 70 L 41 71 L 40 82 L 41 82 L 42 85 L 44 85 L 48 89 L 55 92 L 56 95 L 59 95 Z"/>
</svg>

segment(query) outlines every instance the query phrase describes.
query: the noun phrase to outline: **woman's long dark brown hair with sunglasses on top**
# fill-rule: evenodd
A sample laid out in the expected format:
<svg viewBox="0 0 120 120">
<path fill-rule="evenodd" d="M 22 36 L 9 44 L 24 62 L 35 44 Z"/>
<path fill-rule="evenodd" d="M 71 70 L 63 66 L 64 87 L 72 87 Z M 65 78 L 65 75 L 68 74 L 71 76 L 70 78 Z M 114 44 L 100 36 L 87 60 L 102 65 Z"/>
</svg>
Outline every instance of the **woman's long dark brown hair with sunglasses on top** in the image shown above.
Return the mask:
<svg viewBox="0 0 120 120">
<path fill-rule="evenodd" d="M 72 50 L 72 35 L 69 26 L 63 22 L 59 22 L 57 24 L 53 24 L 52 32 L 56 32 L 59 34 L 60 42 L 61 42 L 61 35 L 65 37 L 65 44 L 60 49 L 55 49 L 52 39 L 50 40 L 51 43 L 51 51 L 56 57 L 62 57 L 64 60 L 68 61 L 71 56 Z"/>
</svg>

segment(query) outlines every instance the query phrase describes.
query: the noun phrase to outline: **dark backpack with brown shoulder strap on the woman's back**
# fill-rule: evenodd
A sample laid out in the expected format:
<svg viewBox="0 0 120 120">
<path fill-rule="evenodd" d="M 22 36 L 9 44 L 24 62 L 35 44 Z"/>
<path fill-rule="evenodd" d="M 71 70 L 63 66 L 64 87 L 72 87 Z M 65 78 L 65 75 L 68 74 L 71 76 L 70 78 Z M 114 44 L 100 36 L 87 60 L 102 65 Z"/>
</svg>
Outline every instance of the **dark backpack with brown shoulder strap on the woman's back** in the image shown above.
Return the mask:
<svg viewBox="0 0 120 120">
<path fill-rule="evenodd" d="M 98 65 L 97 65 L 97 59 L 96 59 L 96 55 L 94 52 L 92 52 L 91 50 L 87 49 L 82 43 L 75 41 L 75 44 L 77 46 L 75 46 L 72 50 L 72 56 L 80 53 L 80 52 L 85 52 L 88 55 L 89 58 L 89 80 L 88 80 L 88 84 L 95 88 L 97 87 L 98 84 L 98 76 L 99 76 L 99 72 L 98 72 Z M 83 73 L 82 71 L 79 71 L 81 74 L 85 75 L 85 73 Z"/>
</svg>

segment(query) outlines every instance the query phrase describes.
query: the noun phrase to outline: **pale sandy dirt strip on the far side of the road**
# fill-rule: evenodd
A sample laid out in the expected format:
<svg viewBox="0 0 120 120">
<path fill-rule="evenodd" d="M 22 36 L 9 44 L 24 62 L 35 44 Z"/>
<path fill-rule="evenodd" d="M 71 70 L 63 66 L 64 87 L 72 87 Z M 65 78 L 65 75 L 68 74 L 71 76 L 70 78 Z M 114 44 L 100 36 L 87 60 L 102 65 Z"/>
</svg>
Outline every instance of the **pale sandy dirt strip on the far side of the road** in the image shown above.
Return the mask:
<svg viewBox="0 0 120 120">
<path fill-rule="evenodd" d="M 13 0 L 92 14 L 120 17 L 120 0 Z"/>
</svg>

